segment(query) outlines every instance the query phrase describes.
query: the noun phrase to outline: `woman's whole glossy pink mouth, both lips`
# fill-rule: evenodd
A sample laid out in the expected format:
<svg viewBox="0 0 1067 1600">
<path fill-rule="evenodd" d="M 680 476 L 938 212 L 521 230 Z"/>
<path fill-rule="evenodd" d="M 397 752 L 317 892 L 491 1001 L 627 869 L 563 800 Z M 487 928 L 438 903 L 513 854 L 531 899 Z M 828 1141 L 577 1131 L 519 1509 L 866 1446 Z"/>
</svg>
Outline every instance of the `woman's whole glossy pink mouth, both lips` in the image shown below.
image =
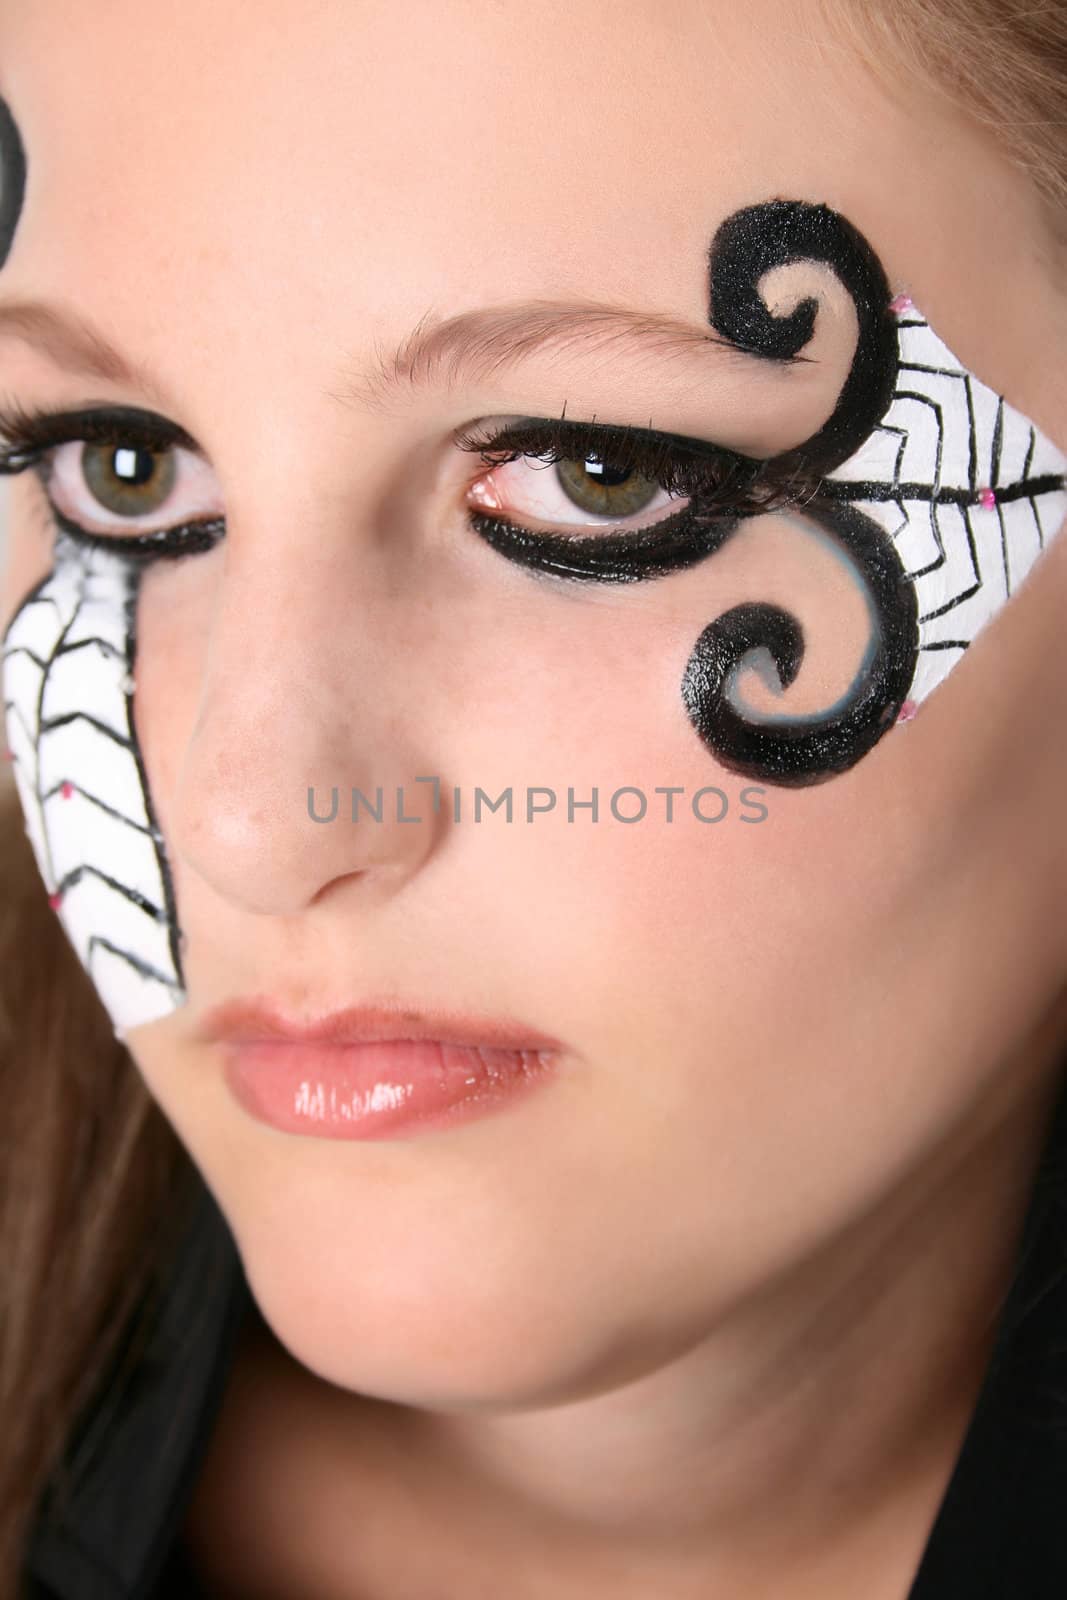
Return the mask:
<svg viewBox="0 0 1067 1600">
<path fill-rule="evenodd" d="M 314 1019 L 266 1002 L 208 1013 L 238 1104 L 282 1133 L 390 1139 L 483 1117 L 555 1078 L 560 1040 L 510 1019 L 358 1005 Z"/>
</svg>

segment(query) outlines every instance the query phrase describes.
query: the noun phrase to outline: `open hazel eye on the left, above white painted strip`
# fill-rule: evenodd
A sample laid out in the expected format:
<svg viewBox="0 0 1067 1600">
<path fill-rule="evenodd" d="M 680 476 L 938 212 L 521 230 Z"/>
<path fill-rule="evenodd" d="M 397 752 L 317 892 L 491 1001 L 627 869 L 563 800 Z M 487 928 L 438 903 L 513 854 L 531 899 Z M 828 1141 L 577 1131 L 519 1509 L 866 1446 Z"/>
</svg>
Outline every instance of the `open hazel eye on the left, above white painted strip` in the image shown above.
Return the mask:
<svg viewBox="0 0 1067 1600">
<path fill-rule="evenodd" d="M 146 533 L 222 515 L 214 474 L 179 445 L 72 440 L 50 450 L 38 470 L 58 520 L 82 533 Z"/>
</svg>

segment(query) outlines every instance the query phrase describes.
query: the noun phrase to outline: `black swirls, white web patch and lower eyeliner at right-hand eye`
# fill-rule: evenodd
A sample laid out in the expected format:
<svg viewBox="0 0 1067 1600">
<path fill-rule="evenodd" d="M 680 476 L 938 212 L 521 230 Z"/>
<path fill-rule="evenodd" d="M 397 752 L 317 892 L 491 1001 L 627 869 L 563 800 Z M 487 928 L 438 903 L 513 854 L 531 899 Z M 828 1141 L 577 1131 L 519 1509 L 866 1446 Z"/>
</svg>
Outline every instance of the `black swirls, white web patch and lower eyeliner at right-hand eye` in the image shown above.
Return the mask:
<svg viewBox="0 0 1067 1600">
<path fill-rule="evenodd" d="M 819 293 L 776 315 L 766 278 L 806 266 L 829 269 L 848 293 L 857 336 L 827 421 L 760 464 L 768 480 L 795 485 L 792 507 L 731 512 L 720 502 L 713 515 L 697 509 L 640 533 L 574 538 L 475 520 L 509 560 L 595 582 L 694 566 L 760 514 L 830 539 L 870 621 L 864 659 L 833 706 L 814 715 L 745 706 L 747 672 L 763 677 L 769 666 L 787 704 L 805 658 L 800 621 L 758 595 L 709 621 L 681 677 L 689 723 L 717 762 L 793 787 L 848 771 L 910 718 L 1067 515 L 1062 453 L 969 373 L 907 298 L 891 298 L 870 245 L 829 206 L 779 198 L 728 218 L 709 250 L 710 325 L 750 355 L 795 360 L 814 336 L 824 285 L 813 277 Z M 744 459 L 728 466 L 731 482 L 750 482 Z"/>
</svg>

